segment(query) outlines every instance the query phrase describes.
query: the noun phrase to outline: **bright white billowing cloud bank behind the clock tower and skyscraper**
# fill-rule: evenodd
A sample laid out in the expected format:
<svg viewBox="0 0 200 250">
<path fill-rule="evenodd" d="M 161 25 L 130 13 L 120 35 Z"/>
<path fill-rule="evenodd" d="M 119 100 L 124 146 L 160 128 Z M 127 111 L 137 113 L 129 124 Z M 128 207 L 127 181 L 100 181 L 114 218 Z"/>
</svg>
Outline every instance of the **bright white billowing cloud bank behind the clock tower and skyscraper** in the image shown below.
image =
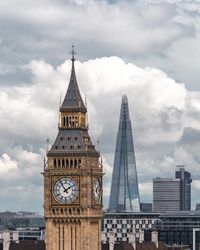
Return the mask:
<svg viewBox="0 0 200 250">
<path fill-rule="evenodd" d="M 30 85 L 0 87 L 0 128 L 7 133 L 0 140 L 1 145 L 6 145 L 1 164 L 4 171 L 12 169 L 16 188 L 25 190 L 32 183 L 36 190 L 41 190 L 45 152 L 40 148 L 45 147 L 47 136 L 51 143 L 56 136 L 59 93 L 64 97 L 71 62 L 55 68 L 44 60 L 35 60 L 24 70 L 32 75 Z M 88 99 L 90 135 L 94 143 L 97 137 L 101 141 L 106 173 L 105 207 L 124 93 L 129 99 L 141 200 L 147 197 L 152 178 L 173 177 L 176 164 L 185 164 L 192 176 L 198 173 L 199 152 L 190 145 L 200 130 L 200 116 L 194 115 L 200 111 L 199 92 L 189 92 L 160 70 L 126 64 L 117 57 L 76 62 L 76 73 L 81 92 Z M 38 197 L 36 203 L 42 206 L 42 195 Z"/>
</svg>

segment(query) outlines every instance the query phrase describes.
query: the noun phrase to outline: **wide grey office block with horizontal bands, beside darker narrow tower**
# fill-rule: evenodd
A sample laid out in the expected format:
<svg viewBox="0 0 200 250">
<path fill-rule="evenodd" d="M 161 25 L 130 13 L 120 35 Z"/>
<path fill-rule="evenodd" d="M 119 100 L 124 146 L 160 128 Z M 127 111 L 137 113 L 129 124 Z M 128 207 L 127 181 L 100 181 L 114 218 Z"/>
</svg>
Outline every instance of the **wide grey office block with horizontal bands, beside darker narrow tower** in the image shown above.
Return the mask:
<svg viewBox="0 0 200 250">
<path fill-rule="evenodd" d="M 162 213 L 180 211 L 180 179 L 153 179 L 153 211 Z"/>
</svg>

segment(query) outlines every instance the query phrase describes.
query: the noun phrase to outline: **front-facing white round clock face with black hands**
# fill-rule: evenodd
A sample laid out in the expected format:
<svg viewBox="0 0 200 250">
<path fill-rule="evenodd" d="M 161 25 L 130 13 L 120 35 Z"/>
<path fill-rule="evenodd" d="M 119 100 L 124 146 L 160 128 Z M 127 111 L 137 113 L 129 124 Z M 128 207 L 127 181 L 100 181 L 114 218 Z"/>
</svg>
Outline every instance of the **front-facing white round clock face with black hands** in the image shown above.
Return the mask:
<svg viewBox="0 0 200 250">
<path fill-rule="evenodd" d="M 78 195 L 78 183 L 71 177 L 59 178 L 53 185 L 53 196 L 59 203 L 71 204 L 77 200 Z"/>
</svg>

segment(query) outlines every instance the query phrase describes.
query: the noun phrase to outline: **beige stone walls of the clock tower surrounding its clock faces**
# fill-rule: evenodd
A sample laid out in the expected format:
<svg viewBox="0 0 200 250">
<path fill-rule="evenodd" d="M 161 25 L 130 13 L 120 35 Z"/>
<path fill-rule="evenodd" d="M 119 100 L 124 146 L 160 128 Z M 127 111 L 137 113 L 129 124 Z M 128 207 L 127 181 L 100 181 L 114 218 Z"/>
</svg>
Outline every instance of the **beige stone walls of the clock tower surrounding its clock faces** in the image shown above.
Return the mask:
<svg viewBox="0 0 200 250">
<path fill-rule="evenodd" d="M 44 172 L 46 250 L 100 250 L 102 205 L 93 199 L 93 179 L 102 178 L 98 158 L 82 157 L 76 169 L 55 169 L 52 158 Z M 53 200 L 52 183 L 61 176 L 79 179 L 79 203 L 61 205 Z M 102 192 L 102 188 L 101 188 Z"/>
</svg>

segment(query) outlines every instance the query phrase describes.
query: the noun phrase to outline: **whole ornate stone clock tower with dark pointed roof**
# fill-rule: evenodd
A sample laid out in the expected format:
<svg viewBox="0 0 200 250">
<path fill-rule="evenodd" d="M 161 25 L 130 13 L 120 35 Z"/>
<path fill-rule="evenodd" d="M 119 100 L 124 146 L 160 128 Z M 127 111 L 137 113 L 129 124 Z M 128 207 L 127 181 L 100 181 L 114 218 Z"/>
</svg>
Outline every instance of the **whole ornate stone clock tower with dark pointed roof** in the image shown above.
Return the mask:
<svg viewBox="0 0 200 250">
<path fill-rule="evenodd" d="M 44 168 L 46 250 L 100 250 L 102 165 L 90 140 L 79 92 L 74 48 L 58 135 Z"/>
</svg>

